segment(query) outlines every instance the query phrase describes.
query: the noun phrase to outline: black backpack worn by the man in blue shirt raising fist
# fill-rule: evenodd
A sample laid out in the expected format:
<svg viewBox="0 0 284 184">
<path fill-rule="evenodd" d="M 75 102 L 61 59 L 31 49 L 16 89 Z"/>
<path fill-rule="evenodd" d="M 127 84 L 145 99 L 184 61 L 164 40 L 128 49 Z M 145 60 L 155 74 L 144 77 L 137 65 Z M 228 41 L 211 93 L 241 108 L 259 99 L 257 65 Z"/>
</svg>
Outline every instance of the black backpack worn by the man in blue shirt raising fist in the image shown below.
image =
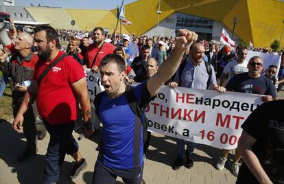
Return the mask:
<svg viewBox="0 0 284 184">
<path fill-rule="evenodd" d="M 99 104 L 102 100 L 104 93 L 106 92 L 102 91 L 102 93 L 99 93 L 95 96 L 94 105 L 95 105 L 95 113 L 97 114 L 97 117 L 99 117 Z M 134 92 L 133 92 L 133 87 L 130 85 L 126 85 L 126 99 L 133 113 L 137 115 L 139 119 L 141 120 L 141 123 L 143 126 L 143 142 L 145 143 L 147 139 L 147 130 L 148 130 L 149 121 L 145 115 L 145 112 L 141 109 L 141 106 L 139 106 L 139 101 L 137 101 L 137 98 L 135 97 Z"/>
</svg>

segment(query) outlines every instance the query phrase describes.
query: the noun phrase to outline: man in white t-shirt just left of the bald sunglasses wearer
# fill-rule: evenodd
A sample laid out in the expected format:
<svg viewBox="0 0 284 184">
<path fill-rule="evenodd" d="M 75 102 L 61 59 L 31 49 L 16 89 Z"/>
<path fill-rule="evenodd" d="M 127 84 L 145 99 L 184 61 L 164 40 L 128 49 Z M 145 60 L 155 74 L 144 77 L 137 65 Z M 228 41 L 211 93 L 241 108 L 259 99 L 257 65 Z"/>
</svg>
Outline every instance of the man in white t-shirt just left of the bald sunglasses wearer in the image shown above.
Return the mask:
<svg viewBox="0 0 284 184">
<path fill-rule="evenodd" d="M 248 61 L 246 60 L 246 56 L 248 56 L 248 48 L 239 47 L 237 50 L 237 60 L 230 61 L 220 76 L 220 86 L 225 87 L 225 80 L 227 76 L 228 82 L 233 76 L 239 73 L 248 72 Z"/>
</svg>

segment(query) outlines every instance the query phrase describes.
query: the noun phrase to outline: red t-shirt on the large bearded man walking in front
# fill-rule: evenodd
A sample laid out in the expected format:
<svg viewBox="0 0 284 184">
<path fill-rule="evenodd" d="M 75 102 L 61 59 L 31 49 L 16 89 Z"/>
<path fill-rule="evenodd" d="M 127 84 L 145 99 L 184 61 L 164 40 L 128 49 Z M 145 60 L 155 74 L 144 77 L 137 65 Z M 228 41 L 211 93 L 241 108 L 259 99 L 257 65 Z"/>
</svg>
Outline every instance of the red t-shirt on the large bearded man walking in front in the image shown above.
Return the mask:
<svg viewBox="0 0 284 184">
<path fill-rule="evenodd" d="M 56 58 L 62 54 L 64 52 L 60 51 Z M 37 81 L 43 70 L 54 60 L 47 65 L 47 62 L 39 59 L 34 71 L 34 80 Z M 36 104 L 40 116 L 47 119 L 50 124 L 75 121 L 77 119 L 76 94 L 71 84 L 84 77 L 82 66 L 72 56 L 65 57 L 53 67 L 38 87 Z"/>
</svg>

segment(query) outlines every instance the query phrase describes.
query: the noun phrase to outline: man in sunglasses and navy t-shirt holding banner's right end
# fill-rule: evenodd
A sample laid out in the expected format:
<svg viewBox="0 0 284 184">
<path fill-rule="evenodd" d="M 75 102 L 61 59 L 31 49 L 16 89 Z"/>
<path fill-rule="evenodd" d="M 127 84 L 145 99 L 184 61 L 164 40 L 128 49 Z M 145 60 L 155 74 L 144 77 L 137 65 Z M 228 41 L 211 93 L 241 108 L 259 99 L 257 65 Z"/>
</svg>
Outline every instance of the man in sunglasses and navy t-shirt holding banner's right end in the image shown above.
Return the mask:
<svg viewBox="0 0 284 184">
<path fill-rule="evenodd" d="M 226 84 L 226 91 L 235 91 L 240 93 L 252 93 L 264 95 L 261 97 L 263 102 L 276 100 L 276 92 L 274 90 L 274 84 L 272 84 L 269 78 L 261 76 L 263 71 L 263 59 L 259 56 L 254 56 L 248 61 L 248 72 L 240 73 L 233 78 L 230 78 L 228 84 Z M 228 159 L 228 152 L 230 150 L 222 150 L 222 156 L 218 161 L 216 168 L 222 170 Z M 230 163 L 230 168 L 235 176 L 239 174 L 239 159 L 241 154 L 236 149 L 233 161 Z"/>
</svg>

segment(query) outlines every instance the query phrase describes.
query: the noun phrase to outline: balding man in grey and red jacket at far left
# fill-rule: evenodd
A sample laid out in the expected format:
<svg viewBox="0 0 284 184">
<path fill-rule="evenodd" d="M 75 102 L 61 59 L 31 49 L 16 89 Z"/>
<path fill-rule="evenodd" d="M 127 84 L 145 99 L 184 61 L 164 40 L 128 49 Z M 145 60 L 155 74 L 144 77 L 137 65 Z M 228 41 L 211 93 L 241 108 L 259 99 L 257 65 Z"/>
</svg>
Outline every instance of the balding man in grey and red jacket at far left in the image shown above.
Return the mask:
<svg viewBox="0 0 284 184">
<path fill-rule="evenodd" d="M 38 56 L 33 54 L 32 45 L 34 39 L 29 34 L 22 32 L 16 37 L 13 54 L 10 62 L 7 61 L 8 54 L 6 51 L 0 50 L 0 68 L 3 74 L 11 77 L 12 89 L 12 108 L 13 115 L 21 106 L 25 92 L 27 91 L 28 83 L 32 80 L 34 67 L 38 60 Z M 23 84 L 24 82 L 26 84 Z M 27 139 L 25 150 L 19 155 L 18 161 L 25 161 L 36 154 L 37 130 L 35 125 L 35 116 L 32 105 L 28 106 L 27 112 L 24 114 L 23 133 Z"/>
</svg>

